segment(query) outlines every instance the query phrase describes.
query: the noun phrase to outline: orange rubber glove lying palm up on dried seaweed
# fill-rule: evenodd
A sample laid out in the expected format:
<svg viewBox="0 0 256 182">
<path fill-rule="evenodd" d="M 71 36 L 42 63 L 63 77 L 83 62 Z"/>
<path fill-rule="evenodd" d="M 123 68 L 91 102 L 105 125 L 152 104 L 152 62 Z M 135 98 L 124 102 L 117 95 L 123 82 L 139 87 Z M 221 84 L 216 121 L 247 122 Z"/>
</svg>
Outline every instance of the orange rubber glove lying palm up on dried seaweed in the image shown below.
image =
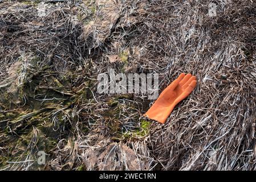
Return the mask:
<svg viewBox="0 0 256 182">
<path fill-rule="evenodd" d="M 160 123 L 165 123 L 173 108 L 184 98 L 188 97 L 192 90 L 196 88 L 196 85 L 195 76 L 192 76 L 190 73 L 187 75 L 181 73 L 172 84 L 162 91 L 159 98 L 157 98 L 144 116 Z"/>
</svg>

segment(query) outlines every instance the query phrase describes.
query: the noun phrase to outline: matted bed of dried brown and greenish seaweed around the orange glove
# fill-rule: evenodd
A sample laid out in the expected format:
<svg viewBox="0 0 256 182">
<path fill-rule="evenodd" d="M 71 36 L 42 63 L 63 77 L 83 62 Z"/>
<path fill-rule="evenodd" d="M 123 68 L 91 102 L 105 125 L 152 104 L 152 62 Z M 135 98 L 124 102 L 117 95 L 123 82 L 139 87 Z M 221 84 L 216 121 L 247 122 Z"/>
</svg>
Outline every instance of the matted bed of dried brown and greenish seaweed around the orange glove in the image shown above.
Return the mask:
<svg viewBox="0 0 256 182">
<path fill-rule="evenodd" d="M 0 169 L 255 170 L 256 3 L 209 3 L 0 2 Z M 198 85 L 160 125 L 108 68 Z"/>
</svg>

